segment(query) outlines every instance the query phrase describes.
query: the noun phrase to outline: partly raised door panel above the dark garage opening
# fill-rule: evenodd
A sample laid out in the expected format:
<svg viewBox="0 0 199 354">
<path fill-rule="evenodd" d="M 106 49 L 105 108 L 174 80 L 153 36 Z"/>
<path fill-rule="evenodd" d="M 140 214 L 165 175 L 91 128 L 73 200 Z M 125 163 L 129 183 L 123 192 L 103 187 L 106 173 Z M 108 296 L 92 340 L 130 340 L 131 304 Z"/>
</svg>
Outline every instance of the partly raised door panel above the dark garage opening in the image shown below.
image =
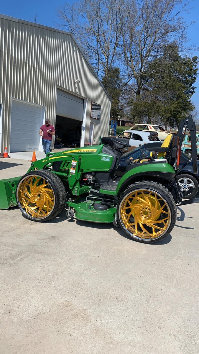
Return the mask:
<svg viewBox="0 0 199 354">
<path fill-rule="evenodd" d="M 57 89 L 56 115 L 83 120 L 84 100 L 66 91 Z"/>
</svg>

